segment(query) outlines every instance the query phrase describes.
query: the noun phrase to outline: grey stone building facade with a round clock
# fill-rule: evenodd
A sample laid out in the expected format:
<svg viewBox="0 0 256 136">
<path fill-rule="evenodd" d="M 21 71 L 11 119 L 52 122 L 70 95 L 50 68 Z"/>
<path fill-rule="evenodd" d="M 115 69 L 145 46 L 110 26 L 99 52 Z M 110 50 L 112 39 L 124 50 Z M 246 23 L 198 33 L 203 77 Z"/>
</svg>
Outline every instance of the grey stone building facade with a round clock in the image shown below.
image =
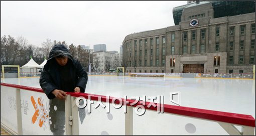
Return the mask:
<svg viewBox="0 0 256 136">
<path fill-rule="evenodd" d="M 126 35 L 126 72 L 252 73 L 255 12 L 214 12 L 210 1 L 190 3 L 178 25 Z"/>
</svg>

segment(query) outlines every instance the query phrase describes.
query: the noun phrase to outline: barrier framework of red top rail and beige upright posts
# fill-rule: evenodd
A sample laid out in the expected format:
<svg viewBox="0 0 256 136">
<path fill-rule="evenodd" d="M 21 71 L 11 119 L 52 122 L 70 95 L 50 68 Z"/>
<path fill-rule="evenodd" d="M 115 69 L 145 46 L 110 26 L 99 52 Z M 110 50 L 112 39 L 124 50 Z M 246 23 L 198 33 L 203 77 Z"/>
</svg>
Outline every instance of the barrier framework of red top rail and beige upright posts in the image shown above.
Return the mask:
<svg viewBox="0 0 256 136">
<path fill-rule="evenodd" d="M 3 86 L 14 87 L 16 88 L 16 104 L 21 105 L 21 95 L 20 89 L 36 91 L 36 92 L 44 92 L 41 88 L 36 87 L 29 87 L 24 85 L 17 85 L 17 84 L 10 84 L 10 83 L 1 83 Z M 78 130 L 78 108 L 75 105 L 76 97 L 83 96 L 84 98 L 91 97 L 91 100 L 98 100 L 98 97 L 101 97 L 102 102 L 106 102 L 106 96 L 104 95 L 97 95 L 97 94 L 90 94 L 90 93 L 74 93 L 74 92 L 67 92 L 68 96 L 66 96 L 65 100 L 65 114 L 66 114 L 66 134 L 79 134 Z M 115 97 L 109 96 L 109 103 L 112 103 L 112 99 Z M 121 98 L 123 101 L 124 99 Z M 126 99 L 129 103 L 132 103 L 135 100 Z M 119 104 L 118 100 L 114 101 L 115 104 Z M 147 105 L 150 102 L 146 101 L 146 105 L 144 106 L 145 109 L 148 110 L 155 110 L 157 111 L 157 106 L 148 107 Z M 133 134 L 133 110 L 134 108 L 142 104 L 139 101 L 135 105 L 127 104 L 127 113 L 125 114 L 125 134 Z M 67 107 L 67 108 L 66 108 Z M 168 114 L 175 114 L 180 116 L 192 117 L 197 119 L 203 120 L 210 120 L 218 122 L 229 134 L 249 134 L 253 135 L 255 130 L 255 119 L 251 115 L 246 114 L 238 114 L 238 113 L 231 113 L 231 112 L 223 112 L 223 111 L 216 111 L 216 110 L 208 110 L 208 109 L 200 109 L 200 108 L 193 108 L 193 107 L 185 107 L 185 106 L 177 106 L 177 105 L 169 105 L 164 104 L 164 113 Z M 14 134 L 22 134 L 22 116 L 21 116 L 21 109 L 17 106 L 17 123 L 18 123 L 18 132 Z M 242 132 L 239 132 L 234 125 L 242 126 Z M 73 127 L 74 126 L 74 127 Z M 9 130 L 12 131 L 12 130 Z"/>
</svg>

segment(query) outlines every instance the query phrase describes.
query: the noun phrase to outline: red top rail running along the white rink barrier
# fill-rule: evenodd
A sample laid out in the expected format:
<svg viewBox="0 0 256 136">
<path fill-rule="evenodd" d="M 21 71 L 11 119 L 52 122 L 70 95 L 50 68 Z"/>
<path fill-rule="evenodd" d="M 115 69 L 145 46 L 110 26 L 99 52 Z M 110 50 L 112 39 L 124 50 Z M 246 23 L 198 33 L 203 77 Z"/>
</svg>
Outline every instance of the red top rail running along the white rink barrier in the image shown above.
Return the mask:
<svg viewBox="0 0 256 136">
<path fill-rule="evenodd" d="M 43 92 L 41 88 L 28 87 L 28 86 L 9 84 L 9 83 L 1 83 L 1 85 L 20 88 L 20 89 L 26 89 L 26 90 L 32 90 L 37 92 Z M 98 100 L 98 97 L 101 97 L 101 101 L 103 102 L 106 102 L 106 98 L 107 98 L 104 95 L 97 95 L 97 94 L 90 94 L 90 93 L 67 92 L 67 94 L 70 94 L 71 96 L 74 96 L 74 97 L 83 96 L 86 99 L 88 98 L 88 96 L 90 96 L 91 100 Z M 116 97 L 109 96 L 109 103 L 119 104 L 118 100 L 115 100 L 114 102 L 112 102 L 113 99 L 116 99 Z M 121 99 L 122 101 L 124 101 L 124 98 L 121 98 Z M 126 99 L 126 101 L 129 101 L 129 104 L 127 104 L 128 106 L 134 106 L 134 107 L 142 103 L 142 101 L 139 101 L 135 105 L 130 105 L 135 100 Z M 157 111 L 157 106 L 148 107 L 149 103 L 150 102 L 146 102 L 146 105 L 144 107 L 146 109 Z M 164 104 L 164 112 L 255 127 L 255 119 L 251 115 L 246 115 L 246 114 L 222 112 L 222 111 L 216 111 L 216 110 L 200 109 L 200 108 L 169 105 L 169 104 Z"/>
</svg>

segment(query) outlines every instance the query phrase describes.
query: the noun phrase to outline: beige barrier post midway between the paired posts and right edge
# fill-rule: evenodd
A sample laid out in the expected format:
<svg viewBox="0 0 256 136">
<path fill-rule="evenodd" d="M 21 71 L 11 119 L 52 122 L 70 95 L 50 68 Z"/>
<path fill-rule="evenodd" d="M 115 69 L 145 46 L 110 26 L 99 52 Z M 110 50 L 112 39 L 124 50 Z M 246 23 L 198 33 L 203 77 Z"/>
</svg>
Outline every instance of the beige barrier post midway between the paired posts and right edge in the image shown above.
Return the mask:
<svg viewBox="0 0 256 136">
<path fill-rule="evenodd" d="M 127 106 L 125 113 L 125 135 L 133 135 L 133 107 Z"/>
</svg>

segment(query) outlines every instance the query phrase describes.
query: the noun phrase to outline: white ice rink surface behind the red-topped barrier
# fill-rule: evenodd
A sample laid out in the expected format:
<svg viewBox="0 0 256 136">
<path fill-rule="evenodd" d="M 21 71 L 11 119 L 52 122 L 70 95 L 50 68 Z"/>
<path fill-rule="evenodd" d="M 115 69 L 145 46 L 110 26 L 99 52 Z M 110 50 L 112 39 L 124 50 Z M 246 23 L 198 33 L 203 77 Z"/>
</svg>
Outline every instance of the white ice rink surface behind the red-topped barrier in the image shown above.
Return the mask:
<svg viewBox="0 0 256 136">
<path fill-rule="evenodd" d="M 39 77 L 2 78 L 2 82 L 40 87 Z M 88 76 L 86 93 L 127 98 L 164 95 L 180 91 L 181 106 L 252 115 L 255 118 L 255 82 L 249 79 Z"/>
</svg>

